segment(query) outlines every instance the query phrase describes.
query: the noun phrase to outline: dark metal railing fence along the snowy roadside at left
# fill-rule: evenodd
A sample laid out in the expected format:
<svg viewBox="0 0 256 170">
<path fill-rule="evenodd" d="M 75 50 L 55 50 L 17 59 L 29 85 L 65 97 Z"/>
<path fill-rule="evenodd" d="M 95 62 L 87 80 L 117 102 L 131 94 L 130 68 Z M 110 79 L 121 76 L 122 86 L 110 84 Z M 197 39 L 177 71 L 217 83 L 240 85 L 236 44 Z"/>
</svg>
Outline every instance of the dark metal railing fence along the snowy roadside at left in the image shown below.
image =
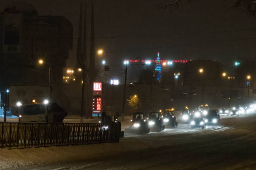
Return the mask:
<svg viewBox="0 0 256 170">
<path fill-rule="evenodd" d="M 0 123 L 0 148 L 119 142 L 120 124 Z"/>
</svg>

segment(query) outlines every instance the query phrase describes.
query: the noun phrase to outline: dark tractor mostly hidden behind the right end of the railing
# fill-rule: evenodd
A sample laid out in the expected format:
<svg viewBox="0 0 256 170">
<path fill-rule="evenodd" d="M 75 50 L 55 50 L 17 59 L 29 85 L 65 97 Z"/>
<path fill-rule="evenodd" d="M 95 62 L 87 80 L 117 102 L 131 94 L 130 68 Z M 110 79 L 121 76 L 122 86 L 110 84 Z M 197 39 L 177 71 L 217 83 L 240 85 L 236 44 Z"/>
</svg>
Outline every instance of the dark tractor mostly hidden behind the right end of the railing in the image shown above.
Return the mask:
<svg viewBox="0 0 256 170">
<path fill-rule="evenodd" d="M 99 120 L 99 123 L 102 124 L 111 124 L 116 123 L 120 126 L 120 137 L 124 137 L 124 131 L 121 131 L 121 122 L 118 122 L 118 116 L 119 114 L 115 111 L 104 111 L 101 114 L 101 120 Z"/>
</svg>

